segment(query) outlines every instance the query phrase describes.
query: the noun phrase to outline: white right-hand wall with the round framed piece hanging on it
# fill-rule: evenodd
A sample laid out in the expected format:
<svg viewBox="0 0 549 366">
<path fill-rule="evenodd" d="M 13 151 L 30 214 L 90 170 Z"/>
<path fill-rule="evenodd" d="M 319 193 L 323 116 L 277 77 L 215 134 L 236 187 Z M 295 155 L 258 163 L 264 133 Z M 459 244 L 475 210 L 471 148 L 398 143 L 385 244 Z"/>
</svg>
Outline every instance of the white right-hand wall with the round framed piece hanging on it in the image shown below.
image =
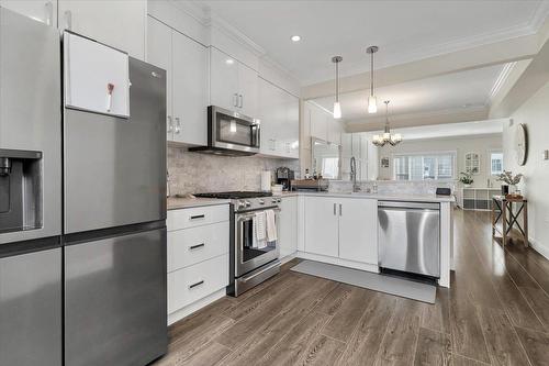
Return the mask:
<svg viewBox="0 0 549 366">
<path fill-rule="evenodd" d="M 549 82 L 538 90 L 513 114 L 513 125 L 504 125 L 503 145 L 505 167 L 525 175 L 519 185 L 528 199 L 528 231 L 531 245 L 549 258 L 549 160 L 544 160 L 544 149 L 549 149 Z M 516 126 L 525 123 L 528 130 L 528 159 L 518 166 L 514 155 Z"/>
</svg>

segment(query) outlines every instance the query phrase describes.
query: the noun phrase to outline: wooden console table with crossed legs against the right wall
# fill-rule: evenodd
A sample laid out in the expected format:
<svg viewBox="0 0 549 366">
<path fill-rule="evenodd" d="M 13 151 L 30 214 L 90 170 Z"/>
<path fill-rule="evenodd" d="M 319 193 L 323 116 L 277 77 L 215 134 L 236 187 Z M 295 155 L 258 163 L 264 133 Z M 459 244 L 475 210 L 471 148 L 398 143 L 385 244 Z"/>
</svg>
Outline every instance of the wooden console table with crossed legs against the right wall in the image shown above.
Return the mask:
<svg viewBox="0 0 549 366">
<path fill-rule="evenodd" d="M 517 207 L 516 213 L 513 212 L 513 206 Z M 523 224 L 518 222 L 520 213 L 523 213 Z M 497 222 L 502 221 L 502 230 L 497 228 Z M 520 234 L 523 234 L 523 242 L 528 246 L 528 200 L 524 198 L 514 199 L 506 198 L 505 196 L 492 197 L 492 237 L 495 237 L 497 231 L 502 234 L 503 247 L 507 243 L 507 236 L 516 225 Z"/>
</svg>

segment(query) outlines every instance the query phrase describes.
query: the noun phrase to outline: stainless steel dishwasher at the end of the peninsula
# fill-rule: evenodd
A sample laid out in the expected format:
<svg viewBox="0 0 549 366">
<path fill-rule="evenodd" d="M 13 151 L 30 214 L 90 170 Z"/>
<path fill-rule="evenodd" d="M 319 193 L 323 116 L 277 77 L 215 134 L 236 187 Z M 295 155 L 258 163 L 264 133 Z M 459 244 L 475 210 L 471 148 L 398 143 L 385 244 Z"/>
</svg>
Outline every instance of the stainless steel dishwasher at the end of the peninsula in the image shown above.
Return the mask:
<svg viewBox="0 0 549 366">
<path fill-rule="evenodd" d="M 440 277 L 440 204 L 379 201 L 379 266 Z"/>
</svg>

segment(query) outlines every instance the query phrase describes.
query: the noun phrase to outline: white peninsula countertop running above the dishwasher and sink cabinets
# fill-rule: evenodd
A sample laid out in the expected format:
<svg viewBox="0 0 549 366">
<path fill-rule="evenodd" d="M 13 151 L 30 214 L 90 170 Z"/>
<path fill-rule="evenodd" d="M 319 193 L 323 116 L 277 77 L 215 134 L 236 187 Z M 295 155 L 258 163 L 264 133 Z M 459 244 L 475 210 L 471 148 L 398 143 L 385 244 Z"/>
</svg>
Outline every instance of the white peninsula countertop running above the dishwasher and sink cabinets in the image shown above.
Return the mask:
<svg viewBox="0 0 549 366">
<path fill-rule="evenodd" d="M 408 202 L 456 202 L 453 196 L 436 195 L 407 195 L 407 193 L 367 193 L 367 192 L 329 192 L 329 191 L 291 191 L 283 192 L 282 197 L 292 196 L 316 196 L 316 197 L 338 197 L 338 198 L 366 198 L 386 201 L 408 201 Z"/>
</svg>

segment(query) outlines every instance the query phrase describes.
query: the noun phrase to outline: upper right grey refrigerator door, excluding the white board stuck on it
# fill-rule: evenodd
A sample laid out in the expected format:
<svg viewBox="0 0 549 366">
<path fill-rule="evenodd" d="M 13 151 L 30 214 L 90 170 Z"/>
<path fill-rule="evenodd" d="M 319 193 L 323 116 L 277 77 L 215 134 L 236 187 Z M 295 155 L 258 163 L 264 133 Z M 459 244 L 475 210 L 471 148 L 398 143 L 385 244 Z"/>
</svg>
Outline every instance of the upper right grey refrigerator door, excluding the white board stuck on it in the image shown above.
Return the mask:
<svg viewBox="0 0 549 366">
<path fill-rule="evenodd" d="M 166 73 L 130 79 L 130 119 L 65 110 L 66 233 L 166 219 Z"/>
</svg>

